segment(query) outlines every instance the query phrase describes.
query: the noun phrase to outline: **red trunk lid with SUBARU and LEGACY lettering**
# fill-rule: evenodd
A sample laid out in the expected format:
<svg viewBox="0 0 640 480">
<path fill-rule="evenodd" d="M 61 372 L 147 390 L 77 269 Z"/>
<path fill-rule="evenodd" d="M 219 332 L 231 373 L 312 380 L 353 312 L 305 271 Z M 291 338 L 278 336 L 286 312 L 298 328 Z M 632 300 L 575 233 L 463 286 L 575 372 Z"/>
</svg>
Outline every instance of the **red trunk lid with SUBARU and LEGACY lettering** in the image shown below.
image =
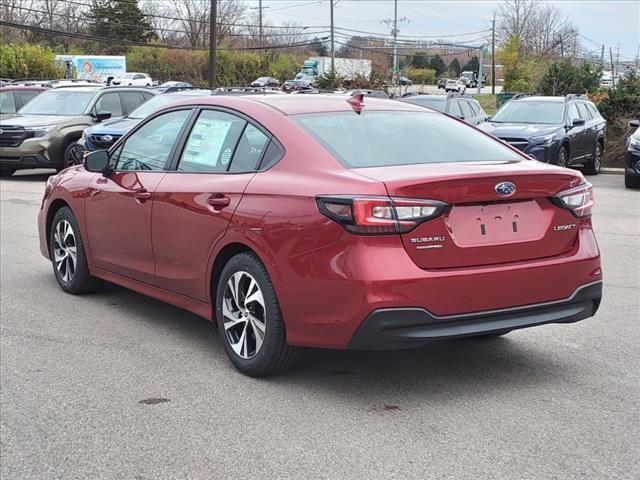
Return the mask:
<svg viewBox="0 0 640 480">
<path fill-rule="evenodd" d="M 580 174 L 535 161 L 451 162 L 356 169 L 391 197 L 446 202 L 440 217 L 402 234 L 424 269 L 474 267 L 552 257 L 573 246 L 578 220 L 551 201 L 582 183 Z M 515 192 L 500 196 L 496 187 Z"/>
</svg>

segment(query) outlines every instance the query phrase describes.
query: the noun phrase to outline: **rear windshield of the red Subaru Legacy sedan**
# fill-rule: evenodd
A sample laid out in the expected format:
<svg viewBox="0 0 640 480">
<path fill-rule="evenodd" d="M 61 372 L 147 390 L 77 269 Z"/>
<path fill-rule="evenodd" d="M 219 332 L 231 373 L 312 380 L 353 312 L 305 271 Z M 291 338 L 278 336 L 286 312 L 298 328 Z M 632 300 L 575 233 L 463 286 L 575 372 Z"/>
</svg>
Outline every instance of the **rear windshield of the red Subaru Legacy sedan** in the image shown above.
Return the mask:
<svg viewBox="0 0 640 480">
<path fill-rule="evenodd" d="M 428 111 L 331 112 L 289 118 L 346 168 L 522 159 L 473 127 Z"/>
</svg>

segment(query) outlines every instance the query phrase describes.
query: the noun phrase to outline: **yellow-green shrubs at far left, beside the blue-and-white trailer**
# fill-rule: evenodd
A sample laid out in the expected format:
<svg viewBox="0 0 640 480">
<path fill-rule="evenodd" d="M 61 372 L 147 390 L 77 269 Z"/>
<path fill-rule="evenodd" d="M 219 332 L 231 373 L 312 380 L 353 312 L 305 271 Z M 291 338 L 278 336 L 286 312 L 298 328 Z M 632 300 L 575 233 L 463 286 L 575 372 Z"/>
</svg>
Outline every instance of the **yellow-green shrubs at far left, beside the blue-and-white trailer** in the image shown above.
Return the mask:
<svg viewBox="0 0 640 480">
<path fill-rule="evenodd" d="M 29 44 L 0 44 L 0 77 L 11 79 L 61 78 L 64 69 L 54 63 L 49 48 Z"/>
</svg>

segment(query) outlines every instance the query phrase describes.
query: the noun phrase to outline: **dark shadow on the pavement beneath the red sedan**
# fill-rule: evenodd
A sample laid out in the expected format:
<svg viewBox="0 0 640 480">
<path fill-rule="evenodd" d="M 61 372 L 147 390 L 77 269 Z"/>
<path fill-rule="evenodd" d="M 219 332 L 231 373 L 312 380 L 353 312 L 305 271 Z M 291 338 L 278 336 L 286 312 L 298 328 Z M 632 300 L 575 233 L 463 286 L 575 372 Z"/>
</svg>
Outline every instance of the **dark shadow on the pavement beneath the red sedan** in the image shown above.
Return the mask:
<svg viewBox="0 0 640 480">
<path fill-rule="evenodd" d="M 195 359 L 233 370 L 217 338 L 217 328 L 189 312 L 124 288 L 107 284 L 96 297 L 117 304 L 136 321 L 175 336 L 176 347 L 188 344 Z M 169 331 L 169 332 L 167 332 Z M 172 340 L 171 340 L 172 341 Z M 548 351 L 532 348 L 518 332 L 494 339 L 435 341 L 427 347 L 398 351 L 336 351 L 305 349 L 292 372 L 254 379 L 264 388 L 293 388 L 302 394 L 329 395 L 354 408 L 396 411 L 430 401 L 446 402 L 469 392 L 535 388 L 557 381 L 566 367 Z M 297 393 L 294 393 L 297 394 Z"/>
</svg>

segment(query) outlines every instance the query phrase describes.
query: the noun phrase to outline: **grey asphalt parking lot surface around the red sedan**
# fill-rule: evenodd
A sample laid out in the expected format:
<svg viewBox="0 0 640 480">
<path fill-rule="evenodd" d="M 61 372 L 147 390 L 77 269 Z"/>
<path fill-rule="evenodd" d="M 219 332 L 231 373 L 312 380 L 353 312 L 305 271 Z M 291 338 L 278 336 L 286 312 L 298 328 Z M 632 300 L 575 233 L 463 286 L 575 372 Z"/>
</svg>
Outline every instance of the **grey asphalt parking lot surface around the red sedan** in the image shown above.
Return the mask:
<svg viewBox="0 0 640 480">
<path fill-rule="evenodd" d="M 116 286 L 62 293 L 38 249 L 46 176 L 0 181 L 3 479 L 640 478 L 640 192 L 622 176 L 590 177 L 595 318 L 309 351 L 260 380 L 194 315 Z"/>
</svg>

